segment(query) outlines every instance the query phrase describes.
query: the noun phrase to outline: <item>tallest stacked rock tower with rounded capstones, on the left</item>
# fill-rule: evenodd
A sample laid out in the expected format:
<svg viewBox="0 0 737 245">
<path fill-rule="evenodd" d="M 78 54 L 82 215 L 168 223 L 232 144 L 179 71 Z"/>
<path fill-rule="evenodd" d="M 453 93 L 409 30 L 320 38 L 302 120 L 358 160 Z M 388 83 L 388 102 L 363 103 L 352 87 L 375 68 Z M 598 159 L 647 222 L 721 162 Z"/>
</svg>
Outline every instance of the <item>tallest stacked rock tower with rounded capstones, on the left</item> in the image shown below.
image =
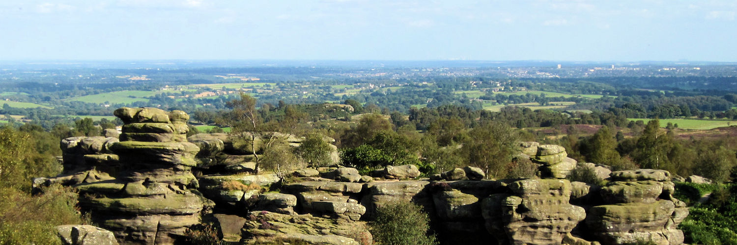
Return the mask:
<svg viewBox="0 0 737 245">
<path fill-rule="evenodd" d="M 199 151 L 186 141 L 189 116 L 128 107 L 115 110 L 115 116 L 125 125 L 111 149 L 123 169 L 116 180 L 77 185 L 80 204 L 121 243 L 173 244 L 187 227 L 200 223 L 205 203 L 189 190 L 198 187 L 191 168 Z"/>
</svg>

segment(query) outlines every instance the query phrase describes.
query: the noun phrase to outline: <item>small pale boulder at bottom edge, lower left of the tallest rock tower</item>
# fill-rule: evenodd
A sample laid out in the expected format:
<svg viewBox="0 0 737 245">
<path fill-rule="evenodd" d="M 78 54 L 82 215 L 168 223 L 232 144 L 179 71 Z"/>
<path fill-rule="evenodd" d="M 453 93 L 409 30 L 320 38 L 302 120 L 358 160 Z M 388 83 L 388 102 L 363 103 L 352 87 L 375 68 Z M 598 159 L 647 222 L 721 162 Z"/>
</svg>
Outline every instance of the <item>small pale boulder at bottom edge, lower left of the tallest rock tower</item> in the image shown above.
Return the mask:
<svg viewBox="0 0 737 245">
<path fill-rule="evenodd" d="M 82 224 L 67 224 L 54 227 L 64 245 L 117 245 L 113 232 Z"/>
</svg>

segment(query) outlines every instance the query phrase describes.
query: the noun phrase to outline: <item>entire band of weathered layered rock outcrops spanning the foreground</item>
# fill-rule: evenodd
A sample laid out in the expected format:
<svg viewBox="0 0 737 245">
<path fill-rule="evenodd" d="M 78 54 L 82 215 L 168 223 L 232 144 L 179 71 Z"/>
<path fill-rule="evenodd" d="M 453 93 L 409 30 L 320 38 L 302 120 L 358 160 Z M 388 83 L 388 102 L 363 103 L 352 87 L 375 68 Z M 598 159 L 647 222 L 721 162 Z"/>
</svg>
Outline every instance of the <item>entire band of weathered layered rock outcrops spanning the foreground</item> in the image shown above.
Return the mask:
<svg viewBox="0 0 737 245">
<path fill-rule="evenodd" d="M 80 205 L 112 232 L 63 226 L 65 244 L 105 244 L 109 234 L 122 244 L 173 244 L 213 205 L 220 213 L 205 217 L 217 219 L 229 241 L 372 244 L 365 222 L 391 202 L 421 205 L 443 244 L 683 241 L 677 226 L 688 207 L 674 199 L 668 171 L 612 172 L 581 163 L 607 184 L 569 182 L 565 177 L 577 164 L 562 146 L 520 143 L 517 159 L 539 164 L 540 179 L 484 180 L 483 170 L 470 166 L 430 180 L 417 180 L 413 165 L 387 166 L 371 176 L 343 166 L 298 166 L 287 171 L 290 182 L 281 183 L 276 174 L 251 174 L 254 152 L 226 134 L 185 138 L 186 113 L 123 107 L 116 116 L 125 122 L 119 142 L 67 138 L 64 174 L 34 180 L 35 186 L 74 185 Z M 286 138 L 284 146 L 301 142 L 279 137 Z"/>
</svg>

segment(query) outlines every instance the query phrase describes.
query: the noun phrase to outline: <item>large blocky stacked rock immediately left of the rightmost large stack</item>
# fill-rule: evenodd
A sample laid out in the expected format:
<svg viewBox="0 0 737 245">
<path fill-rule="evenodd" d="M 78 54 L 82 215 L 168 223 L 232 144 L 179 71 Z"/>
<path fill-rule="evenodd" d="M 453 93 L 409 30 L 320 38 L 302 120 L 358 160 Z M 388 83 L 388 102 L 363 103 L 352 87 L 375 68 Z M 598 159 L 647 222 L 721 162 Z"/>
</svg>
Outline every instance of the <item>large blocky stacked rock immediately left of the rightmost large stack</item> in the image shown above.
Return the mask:
<svg viewBox="0 0 737 245">
<path fill-rule="evenodd" d="M 493 194 L 483 200 L 486 228 L 503 244 L 561 244 L 584 220 L 583 207 L 570 205 L 568 180 L 519 180 L 511 195 Z"/>
</svg>

